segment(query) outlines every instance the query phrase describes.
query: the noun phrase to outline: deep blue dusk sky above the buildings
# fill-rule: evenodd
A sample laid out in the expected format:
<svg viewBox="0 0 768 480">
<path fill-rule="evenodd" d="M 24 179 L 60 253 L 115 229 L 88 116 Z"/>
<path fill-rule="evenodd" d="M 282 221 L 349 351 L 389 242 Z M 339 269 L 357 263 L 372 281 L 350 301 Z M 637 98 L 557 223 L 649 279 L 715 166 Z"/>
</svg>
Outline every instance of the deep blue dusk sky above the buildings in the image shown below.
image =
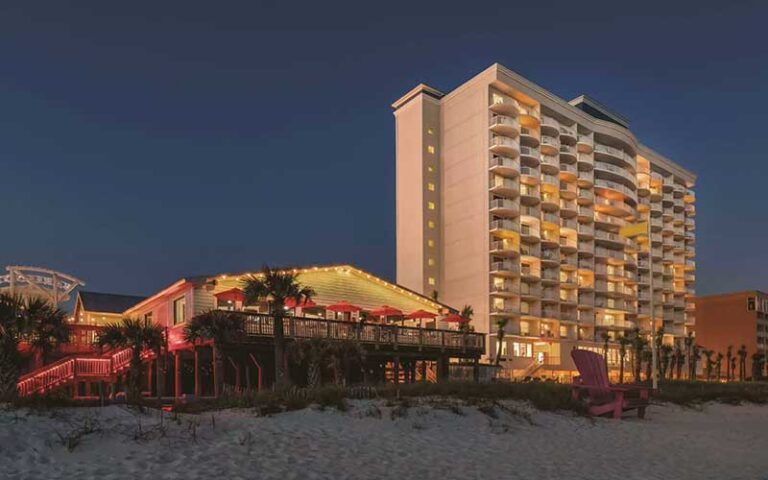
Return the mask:
<svg viewBox="0 0 768 480">
<path fill-rule="evenodd" d="M 68 3 L 0 5 L 0 266 L 392 278 L 389 105 L 500 62 L 699 174 L 701 293 L 768 288 L 765 2 Z"/>
</svg>

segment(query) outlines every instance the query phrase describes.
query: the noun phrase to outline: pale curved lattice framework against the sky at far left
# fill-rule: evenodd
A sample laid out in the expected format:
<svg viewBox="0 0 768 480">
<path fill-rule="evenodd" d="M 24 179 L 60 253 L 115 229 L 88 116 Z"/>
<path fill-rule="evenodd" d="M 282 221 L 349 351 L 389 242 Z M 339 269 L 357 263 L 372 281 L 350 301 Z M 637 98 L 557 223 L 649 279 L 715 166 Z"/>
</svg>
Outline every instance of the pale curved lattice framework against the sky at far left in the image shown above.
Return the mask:
<svg viewBox="0 0 768 480">
<path fill-rule="evenodd" d="M 85 282 L 48 268 L 12 265 L 0 273 L 0 292 L 23 297 L 42 297 L 54 305 L 69 300 L 77 287 Z"/>
</svg>

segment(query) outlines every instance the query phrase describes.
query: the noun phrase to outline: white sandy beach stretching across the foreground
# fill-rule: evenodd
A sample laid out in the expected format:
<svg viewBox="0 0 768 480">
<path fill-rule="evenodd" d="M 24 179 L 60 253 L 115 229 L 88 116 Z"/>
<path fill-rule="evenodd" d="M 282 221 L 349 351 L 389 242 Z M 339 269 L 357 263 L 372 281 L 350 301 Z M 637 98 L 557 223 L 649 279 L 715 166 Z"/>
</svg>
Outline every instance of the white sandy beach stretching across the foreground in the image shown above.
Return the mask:
<svg viewBox="0 0 768 480">
<path fill-rule="evenodd" d="M 592 422 L 510 406 L 534 424 L 466 406 L 416 406 L 393 420 L 382 402 L 361 401 L 347 413 L 227 411 L 179 423 L 165 414 L 162 436 L 156 411 L 2 411 L 0 478 L 768 478 L 768 407 L 654 406 L 646 420 Z M 86 419 L 100 431 L 70 452 L 57 432 Z"/>
</svg>

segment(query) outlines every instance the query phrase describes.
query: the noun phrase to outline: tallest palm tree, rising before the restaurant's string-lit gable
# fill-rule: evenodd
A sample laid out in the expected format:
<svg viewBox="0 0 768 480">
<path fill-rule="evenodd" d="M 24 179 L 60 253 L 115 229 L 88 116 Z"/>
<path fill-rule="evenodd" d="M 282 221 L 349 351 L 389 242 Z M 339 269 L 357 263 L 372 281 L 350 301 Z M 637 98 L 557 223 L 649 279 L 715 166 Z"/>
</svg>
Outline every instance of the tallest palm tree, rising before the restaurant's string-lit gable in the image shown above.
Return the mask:
<svg viewBox="0 0 768 480">
<path fill-rule="evenodd" d="M 260 276 L 251 276 L 245 281 L 243 291 L 246 303 L 269 302 L 270 314 L 274 320 L 275 385 L 278 388 L 283 388 L 288 382 L 285 374 L 285 336 L 283 332 L 285 302 L 293 300 L 297 304 L 301 304 L 310 300 L 315 291 L 299 283 L 295 273 L 273 270 L 267 265 L 262 267 Z"/>
</svg>

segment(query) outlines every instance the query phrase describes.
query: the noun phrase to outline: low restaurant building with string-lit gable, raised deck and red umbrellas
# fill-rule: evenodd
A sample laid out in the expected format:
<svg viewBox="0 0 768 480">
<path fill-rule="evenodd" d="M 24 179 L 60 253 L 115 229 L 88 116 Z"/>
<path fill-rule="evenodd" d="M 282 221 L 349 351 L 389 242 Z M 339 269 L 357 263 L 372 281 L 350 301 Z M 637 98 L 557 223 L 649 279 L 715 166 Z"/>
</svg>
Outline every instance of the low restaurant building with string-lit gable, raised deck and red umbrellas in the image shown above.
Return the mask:
<svg viewBox="0 0 768 480">
<path fill-rule="evenodd" d="M 352 342 L 364 354 L 363 364 L 350 381 L 437 381 L 461 363 L 479 374 L 478 361 L 485 351 L 485 336 L 459 329 L 466 320 L 448 305 L 387 282 L 349 265 L 291 269 L 298 281 L 315 291 L 310 302 L 286 305 L 285 337 L 288 343 L 312 338 L 330 343 Z M 210 396 L 212 345 L 185 341 L 184 327 L 196 315 L 225 310 L 242 318 L 245 334 L 227 348 L 224 383 L 236 389 L 259 389 L 274 383 L 274 324 L 266 302 L 247 305 L 244 281 L 260 272 L 228 273 L 179 279 L 133 305 L 112 319 L 149 320 L 165 329 L 167 348 L 164 391 L 169 395 Z M 67 388 L 75 397 L 95 394 L 95 385 L 119 383 L 130 358 L 125 351 L 98 352 L 94 339 L 106 313 L 104 303 L 84 292 L 78 299 L 76 329 L 88 328 L 93 335 L 73 337 L 67 348 L 77 349 L 54 364 L 22 377 L 23 394 Z M 116 297 L 115 297 L 116 298 Z M 112 298 L 112 300 L 115 300 Z M 100 298 L 106 302 L 107 298 Z M 99 306 L 102 305 L 102 306 Z M 102 317 L 104 317 L 102 319 Z M 88 322 L 91 322 L 89 324 Z M 156 394 L 158 359 L 146 352 L 146 394 Z M 158 377 L 159 378 L 159 377 Z"/>
</svg>

